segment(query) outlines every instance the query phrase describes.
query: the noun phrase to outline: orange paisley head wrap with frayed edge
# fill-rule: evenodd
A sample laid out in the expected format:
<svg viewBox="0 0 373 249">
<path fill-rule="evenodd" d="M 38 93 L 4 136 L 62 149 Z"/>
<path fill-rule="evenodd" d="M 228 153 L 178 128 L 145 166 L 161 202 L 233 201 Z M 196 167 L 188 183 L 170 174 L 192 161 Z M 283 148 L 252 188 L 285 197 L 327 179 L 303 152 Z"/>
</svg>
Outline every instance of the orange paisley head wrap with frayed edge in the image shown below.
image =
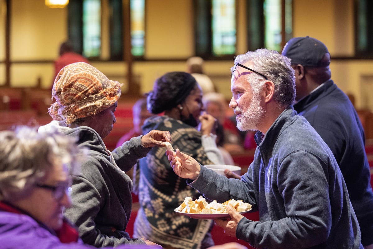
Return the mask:
<svg viewBox="0 0 373 249">
<path fill-rule="evenodd" d="M 95 115 L 118 101 L 121 86 L 88 63 L 67 65 L 54 80 L 49 115 L 65 124 Z"/>
</svg>

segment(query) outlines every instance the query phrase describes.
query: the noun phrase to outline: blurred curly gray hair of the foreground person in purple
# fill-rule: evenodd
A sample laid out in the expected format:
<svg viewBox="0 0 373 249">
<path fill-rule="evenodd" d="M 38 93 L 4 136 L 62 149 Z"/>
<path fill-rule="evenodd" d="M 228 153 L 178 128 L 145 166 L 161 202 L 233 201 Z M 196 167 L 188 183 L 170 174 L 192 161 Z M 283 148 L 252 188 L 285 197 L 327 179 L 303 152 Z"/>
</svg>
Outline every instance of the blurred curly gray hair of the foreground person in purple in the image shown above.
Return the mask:
<svg viewBox="0 0 373 249">
<path fill-rule="evenodd" d="M 37 133 L 19 126 L 0 132 L 0 200 L 21 199 L 32 186 L 43 180 L 48 169 L 64 164 L 69 174 L 77 174 L 84 150 L 75 139 L 57 131 Z M 78 160 L 79 158 L 79 160 Z"/>
</svg>

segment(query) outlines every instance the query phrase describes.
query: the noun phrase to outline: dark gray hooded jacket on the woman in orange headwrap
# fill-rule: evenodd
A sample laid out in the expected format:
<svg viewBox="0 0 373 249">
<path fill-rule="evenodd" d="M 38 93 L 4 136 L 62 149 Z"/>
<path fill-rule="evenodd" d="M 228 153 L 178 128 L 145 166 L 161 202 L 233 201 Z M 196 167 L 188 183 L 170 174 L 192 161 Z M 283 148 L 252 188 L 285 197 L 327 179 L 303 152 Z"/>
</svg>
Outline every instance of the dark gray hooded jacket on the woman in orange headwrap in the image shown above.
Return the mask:
<svg viewBox="0 0 373 249">
<path fill-rule="evenodd" d="M 52 121 L 40 127 L 39 132 L 53 127 L 67 136 L 76 137 L 79 147 L 88 149 L 81 173 L 73 179 L 72 205 L 64 212 L 79 227 L 84 243 L 96 247 L 145 244 L 141 239 L 131 239 L 125 231 L 131 215 L 133 187 L 125 172 L 151 148 L 144 148 L 139 136 L 109 155 L 102 139 L 92 128 L 68 128 L 63 122 Z"/>
</svg>

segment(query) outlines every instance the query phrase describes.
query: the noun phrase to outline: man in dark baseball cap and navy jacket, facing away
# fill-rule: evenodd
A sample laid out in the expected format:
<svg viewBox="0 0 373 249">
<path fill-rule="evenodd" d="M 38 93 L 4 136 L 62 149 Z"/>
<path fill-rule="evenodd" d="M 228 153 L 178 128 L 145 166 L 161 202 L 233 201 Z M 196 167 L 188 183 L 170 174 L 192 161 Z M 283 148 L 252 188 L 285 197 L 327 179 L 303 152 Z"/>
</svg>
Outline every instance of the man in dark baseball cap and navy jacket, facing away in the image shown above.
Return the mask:
<svg viewBox="0 0 373 249">
<path fill-rule="evenodd" d="M 373 249 L 373 192 L 364 129 L 350 99 L 330 79 L 330 53 L 321 41 L 306 36 L 290 39 L 282 55 L 295 70 L 294 109 L 332 150 L 360 225 L 361 243 Z"/>
</svg>

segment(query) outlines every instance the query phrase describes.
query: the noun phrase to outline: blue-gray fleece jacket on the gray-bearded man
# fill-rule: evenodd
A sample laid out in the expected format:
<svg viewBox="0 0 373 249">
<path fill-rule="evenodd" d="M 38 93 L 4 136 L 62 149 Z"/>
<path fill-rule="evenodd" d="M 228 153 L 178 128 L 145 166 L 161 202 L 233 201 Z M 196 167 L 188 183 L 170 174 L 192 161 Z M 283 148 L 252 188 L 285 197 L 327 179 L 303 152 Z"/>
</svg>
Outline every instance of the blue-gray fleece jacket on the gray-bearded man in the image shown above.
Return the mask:
<svg viewBox="0 0 373 249">
<path fill-rule="evenodd" d="M 257 248 L 363 248 L 347 187 L 329 147 L 292 106 L 272 124 L 241 180 L 201 167 L 188 180 L 210 200 L 244 200 L 260 221 L 242 218 L 236 236 Z"/>
</svg>

